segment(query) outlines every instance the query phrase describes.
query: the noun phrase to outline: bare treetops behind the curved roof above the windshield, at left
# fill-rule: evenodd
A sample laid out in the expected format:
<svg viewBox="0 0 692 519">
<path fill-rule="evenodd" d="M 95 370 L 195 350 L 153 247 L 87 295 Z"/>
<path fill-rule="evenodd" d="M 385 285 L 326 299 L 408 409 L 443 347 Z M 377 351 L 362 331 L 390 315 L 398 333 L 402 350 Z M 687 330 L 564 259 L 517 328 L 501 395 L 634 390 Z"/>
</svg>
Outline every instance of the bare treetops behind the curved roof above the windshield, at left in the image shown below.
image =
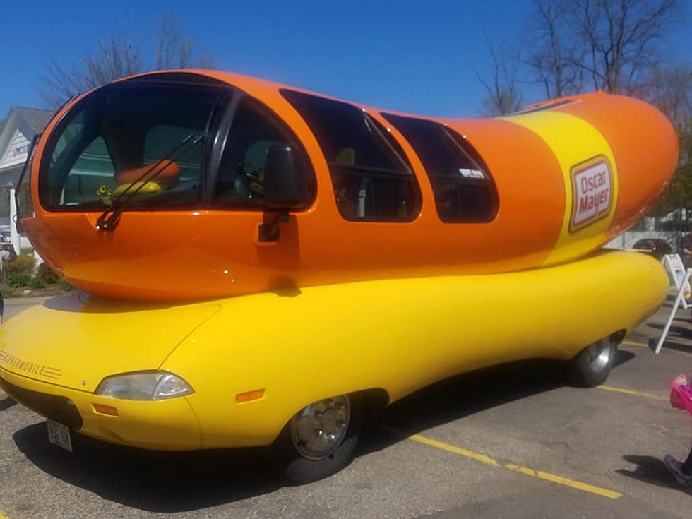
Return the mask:
<svg viewBox="0 0 692 519">
<path fill-rule="evenodd" d="M 78 64 L 50 61 L 39 93 L 48 108 L 56 109 L 76 93 L 143 71 L 213 66 L 207 56 L 195 57 L 195 44 L 184 35 L 177 16 L 162 18 L 155 47 L 145 49 L 153 54 L 151 66 L 146 64 L 143 50 L 141 38 L 134 37 L 129 28 L 119 37 L 102 37 L 95 52 L 83 56 Z"/>
</svg>

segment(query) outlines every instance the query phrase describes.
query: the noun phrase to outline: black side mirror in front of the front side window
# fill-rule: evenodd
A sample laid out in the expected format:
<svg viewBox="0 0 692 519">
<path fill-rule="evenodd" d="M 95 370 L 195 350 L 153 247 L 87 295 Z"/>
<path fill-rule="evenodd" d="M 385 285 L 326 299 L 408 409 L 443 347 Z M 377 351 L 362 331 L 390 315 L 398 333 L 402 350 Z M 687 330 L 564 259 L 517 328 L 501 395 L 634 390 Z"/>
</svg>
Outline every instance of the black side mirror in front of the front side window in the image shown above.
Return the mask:
<svg viewBox="0 0 692 519">
<path fill-rule="evenodd" d="M 275 144 L 268 149 L 264 165 L 264 204 L 269 208 L 292 210 L 310 200 L 307 175 L 296 167 L 296 162 L 290 145 Z"/>
</svg>

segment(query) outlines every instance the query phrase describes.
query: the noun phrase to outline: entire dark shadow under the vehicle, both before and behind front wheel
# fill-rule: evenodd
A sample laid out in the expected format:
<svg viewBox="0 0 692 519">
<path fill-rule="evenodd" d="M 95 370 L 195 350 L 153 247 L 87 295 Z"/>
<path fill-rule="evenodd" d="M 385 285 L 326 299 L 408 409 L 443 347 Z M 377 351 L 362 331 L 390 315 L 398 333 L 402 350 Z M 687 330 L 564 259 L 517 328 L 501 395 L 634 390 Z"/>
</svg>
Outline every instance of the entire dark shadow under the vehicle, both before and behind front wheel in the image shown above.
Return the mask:
<svg viewBox="0 0 692 519">
<path fill-rule="evenodd" d="M 618 352 L 616 365 L 633 357 Z M 410 434 L 568 385 L 565 366 L 549 361 L 516 362 L 449 378 L 371 417 L 357 456 L 380 451 Z M 143 511 L 199 510 L 269 494 L 287 484 L 258 450 L 158 453 L 76 434 L 70 454 L 47 443 L 43 422 L 17 431 L 13 439 L 28 460 L 52 477 Z"/>
</svg>

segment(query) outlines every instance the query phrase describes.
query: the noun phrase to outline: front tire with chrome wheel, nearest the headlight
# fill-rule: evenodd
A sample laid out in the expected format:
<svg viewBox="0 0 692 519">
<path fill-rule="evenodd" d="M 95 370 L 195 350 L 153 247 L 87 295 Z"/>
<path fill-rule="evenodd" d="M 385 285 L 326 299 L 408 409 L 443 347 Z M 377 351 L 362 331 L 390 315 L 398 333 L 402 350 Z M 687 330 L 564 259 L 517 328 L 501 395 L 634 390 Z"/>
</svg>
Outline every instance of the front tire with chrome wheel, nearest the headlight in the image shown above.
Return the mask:
<svg viewBox="0 0 692 519">
<path fill-rule="evenodd" d="M 340 420 L 345 424 L 340 426 Z M 338 395 L 313 402 L 284 426 L 269 448 L 270 463 L 297 484 L 333 475 L 353 460 L 362 422 L 360 395 Z M 332 434 L 335 439 L 330 440 Z"/>
</svg>

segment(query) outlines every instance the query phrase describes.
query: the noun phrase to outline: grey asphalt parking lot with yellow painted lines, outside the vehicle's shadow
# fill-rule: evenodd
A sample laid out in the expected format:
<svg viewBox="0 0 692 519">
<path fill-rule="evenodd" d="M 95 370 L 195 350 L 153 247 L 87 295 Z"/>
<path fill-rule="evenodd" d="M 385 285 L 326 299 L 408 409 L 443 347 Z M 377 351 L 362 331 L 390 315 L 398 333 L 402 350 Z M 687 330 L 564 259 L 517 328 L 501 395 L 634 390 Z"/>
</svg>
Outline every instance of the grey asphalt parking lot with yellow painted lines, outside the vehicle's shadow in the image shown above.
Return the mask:
<svg viewBox="0 0 692 519">
<path fill-rule="evenodd" d="M 6 317 L 20 309 L 8 302 Z M 605 386 L 574 388 L 549 362 L 444 381 L 368 426 L 347 469 L 303 487 L 251 451 L 147 453 L 76 438 L 71 455 L 0 391 L 0 519 L 688 516 L 692 489 L 662 458 L 684 458 L 692 437 L 667 390 L 692 372 L 692 319 L 679 311 L 655 356 L 647 342 L 667 311 L 626 338 Z"/>
</svg>

